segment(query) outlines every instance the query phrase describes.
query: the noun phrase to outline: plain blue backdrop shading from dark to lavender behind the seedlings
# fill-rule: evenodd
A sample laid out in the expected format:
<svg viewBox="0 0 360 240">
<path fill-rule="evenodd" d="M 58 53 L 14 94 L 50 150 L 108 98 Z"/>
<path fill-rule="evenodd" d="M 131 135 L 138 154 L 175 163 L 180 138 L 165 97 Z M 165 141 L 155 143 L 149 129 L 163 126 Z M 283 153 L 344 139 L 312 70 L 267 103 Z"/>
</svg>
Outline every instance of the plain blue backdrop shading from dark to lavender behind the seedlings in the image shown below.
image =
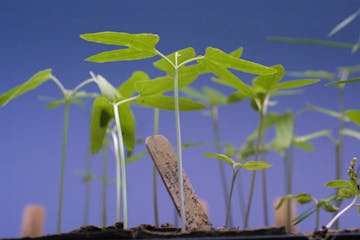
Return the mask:
<svg viewBox="0 0 360 240">
<path fill-rule="evenodd" d="M 244 47 L 243 57 L 265 65 L 283 64 L 289 71 L 321 69 L 336 71 L 338 66 L 358 64 L 358 54 L 347 49 L 289 45 L 269 42 L 269 35 L 327 39 L 327 33 L 343 18 L 356 11 L 358 1 L 328 0 L 246 0 L 246 1 L 20 1 L 0 2 L 0 92 L 23 83 L 34 73 L 52 68 L 67 88 L 76 86 L 89 77 L 89 71 L 104 75 L 114 85 L 127 79 L 134 70 L 147 71 L 152 77 L 159 72 L 152 60 L 93 64 L 84 59 L 105 48 L 84 42 L 81 33 L 122 31 L 151 32 L 160 35 L 158 49 L 171 53 L 188 46 L 202 54 L 207 46 L 231 51 Z M 359 19 L 332 40 L 356 42 Z M 207 76 L 210 77 L 210 76 Z M 290 79 L 286 77 L 286 79 Z M 251 81 L 245 78 L 244 81 Z M 207 78 L 193 86 L 210 84 Z M 336 109 L 337 91 L 325 87 L 325 82 L 306 88 L 304 94 L 279 98 L 271 110 L 284 112 L 300 110 L 307 102 Z M 230 89 L 218 87 L 229 93 Z M 90 87 L 90 90 L 95 90 Z M 346 107 L 359 109 L 359 84 L 346 87 Z M 43 204 L 47 209 L 45 233 L 55 233 L 60 174 L 63 107 L 47 110 L 38 96 L 60 97 L 57 87 L 49 82 L 9 103 L 0 111 L 0 237 L 19 235 L 23 208 L 29 203 Z M 152 134 L 152 110 L 134 108 L 137 117 L 137 137 Z M 70 113 L 69 149 L 66 165 L 63 231 L 83 224 L 84 184 L 75 172 L 86 166 L 88 148 L 88 114 L 73 106 Z M 162 112 L 160 131 L 175 143 L 172 112 Z M 257 126 L 256 113 L 248 102 L 220 109 L 220 130 L 224 142 L 240 146 Z M 349 124 L 350 127 L 357 128 Z M 307 134 L 319 129 L 335 131 L 337 121 L 318 113 L 306 113 L 298 118 L 296 134 Z M 201 112 L 182 114 L 183 141 L 213 139 L 211 120 Z M 269 136 L 271 137 L 271 136 Z M 314 153 L 295 152 L 294 193 L 308 192 L 325 197 L 329 191 L 323 184 L 334 176 L 334 147 L 327 139 L 314 141 Z M 144 147 L 139 146 L 138 150 Z M 199 196 L 208 201 L 210 217 L 215 226 L 224 223 L 225 208 L 221 195 L 217 162 L 202 156 L 214 148 L 196 148 L 184 152 L 184 168 Z M 345 141 L 344 174 L 348 162 L 359 155 L 359 142 Z M 273 165 L 269 176 L 269 206 L 276 196 L 284 194 L 283 161 L 270 154 Z M 114 161 L 110 158 L 109 174 L 114 176 Z M 101 159 L 93 162 L 95 174 L 101 174 Z M 231 169 L 227 168 L 228 180 Z M 129 223 L 153 223 L 152 162 L 149 157 L 127 167 Z M 244 184 L 249 175 L 244 173 Z M 258 179 L 258 183 L 260 179 Z M 255 202 L 250 227 L 263 226 L 260 185 L 255 191 Z M 159 184 L 160 222 L 173 221 L 173 207 L 166 190 Z M 246 191 L 245 197 L 248 194 Z M 239 214 L 234 198 L 234 216 Z M 90 224 L 100 225 L 100 181 L 92 182 Z M 300 207 L 300 210 L 307 207 Z M 299 212 L 300 212 L 299 210 Z M 108 187 L 108 224 L 115 219 L 115 185 Z M 271 223 L 273 224 L 273 210 Z M 326 224 L 330 215 L 322 213 Z M 311 231 L 314 219 L 299 226 L 300 231 Z M 235 226 L 242 226 L 240 217 Z M 342 227 L 358 227 L 356 210 L 348 213 Z"/>
</svg>

